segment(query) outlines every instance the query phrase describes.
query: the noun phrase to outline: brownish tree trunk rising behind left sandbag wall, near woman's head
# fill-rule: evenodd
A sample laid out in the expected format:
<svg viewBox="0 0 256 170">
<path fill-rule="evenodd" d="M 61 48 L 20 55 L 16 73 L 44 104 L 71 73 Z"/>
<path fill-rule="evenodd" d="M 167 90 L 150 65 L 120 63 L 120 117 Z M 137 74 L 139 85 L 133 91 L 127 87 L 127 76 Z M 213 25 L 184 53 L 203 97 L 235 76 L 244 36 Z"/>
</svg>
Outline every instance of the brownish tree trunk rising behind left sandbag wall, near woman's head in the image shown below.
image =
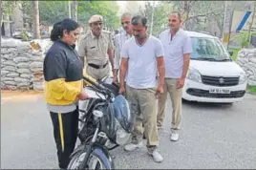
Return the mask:
<svg viewBox="0 0 256 170">
<path fill-rule="evenodd" d="M 32 1 L 33 9 L 33 38 L 40 39 L 38 0 Z"/>
</svg>

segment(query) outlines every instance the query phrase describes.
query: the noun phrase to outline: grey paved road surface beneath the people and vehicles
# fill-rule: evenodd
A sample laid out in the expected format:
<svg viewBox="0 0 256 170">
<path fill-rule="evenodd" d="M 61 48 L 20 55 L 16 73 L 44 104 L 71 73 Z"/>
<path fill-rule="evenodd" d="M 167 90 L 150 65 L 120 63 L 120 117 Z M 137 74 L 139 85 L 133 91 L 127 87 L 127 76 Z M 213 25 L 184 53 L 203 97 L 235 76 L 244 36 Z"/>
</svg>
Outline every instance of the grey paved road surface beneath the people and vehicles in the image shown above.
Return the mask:
<svg viewBox="0 0 256 170">
<path fill-rule="evenodd" d="M 224 106 L 184 102 L 178 142 L 169 140 L 167 115 L 160 131 L 164 161 L 155 163 L 145 148 L 133 153 L 117 148 L 112 152 L 117 169 L 256 167 L 256 96 L 246 95 L 243 102 Z M 53 169 L 56 160 L 53 128 L 42 96 L 4 98 L 1 168 Z"/>
</svg>

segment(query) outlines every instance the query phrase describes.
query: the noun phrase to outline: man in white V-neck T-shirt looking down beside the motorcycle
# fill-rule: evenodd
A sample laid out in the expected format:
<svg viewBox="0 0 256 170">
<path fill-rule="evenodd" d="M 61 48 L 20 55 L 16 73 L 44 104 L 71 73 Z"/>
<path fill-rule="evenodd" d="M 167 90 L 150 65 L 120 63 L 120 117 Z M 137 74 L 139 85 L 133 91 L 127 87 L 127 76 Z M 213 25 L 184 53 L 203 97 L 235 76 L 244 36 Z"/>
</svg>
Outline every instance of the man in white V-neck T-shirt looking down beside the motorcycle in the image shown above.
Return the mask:
<svg viewBox="0 0 256 170">
<path fill-rule="evenodd" d="M 161 162 L 163 159 L 157 150 L 157 115 L 158 96 L 163 92 L 165 74 L 163 49 L 158 38 L 146 33 L 146 23 L 147 19 L 143 16 L 133 17 L 134 37 L 125 42 L 121 52 L 119 93 L 126 93 L 132 114 L 135 116 L 135 138 L 124 149 L 133 151 L 142 146 L 143 122 L 148 154 L 156 162 Z"/>
</svg>

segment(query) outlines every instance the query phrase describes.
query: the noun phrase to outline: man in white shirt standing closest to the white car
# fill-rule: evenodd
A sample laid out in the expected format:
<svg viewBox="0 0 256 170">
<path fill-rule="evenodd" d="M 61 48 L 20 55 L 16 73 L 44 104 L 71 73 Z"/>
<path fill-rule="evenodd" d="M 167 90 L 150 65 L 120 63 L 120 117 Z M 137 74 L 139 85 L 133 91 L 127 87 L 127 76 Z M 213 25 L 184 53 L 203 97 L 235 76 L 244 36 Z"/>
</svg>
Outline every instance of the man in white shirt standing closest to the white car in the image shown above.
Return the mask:
<svg viewBox="0 0 256 170">
<path fill-rule="evenodd" d="M 166 98 L 169 94 L 173 108 L 171 140 L 177 141 L 181 123 L 181 93 L 192 47 L 190 37 L 181 29 L 181 14 L 179 12 L 169 14 L 169 27 L 170 29 L 160 33 L 166 74 L 164 92 L 159 99 L 158 127 L 162 127 Z"/>
</svg>

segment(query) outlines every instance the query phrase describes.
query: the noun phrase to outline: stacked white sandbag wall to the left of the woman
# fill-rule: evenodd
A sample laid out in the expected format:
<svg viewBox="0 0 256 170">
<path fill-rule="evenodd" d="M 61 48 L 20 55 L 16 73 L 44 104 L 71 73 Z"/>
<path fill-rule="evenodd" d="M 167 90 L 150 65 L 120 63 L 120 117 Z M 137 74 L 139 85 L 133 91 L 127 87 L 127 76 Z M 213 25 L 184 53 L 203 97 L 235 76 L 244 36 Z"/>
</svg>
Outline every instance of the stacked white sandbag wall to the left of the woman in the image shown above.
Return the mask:
<svg viewBox="0 0 256 170">
<path fill-rule="evenodd" d="M 43 90 L 44 51 L 32 47 L 31 42 L 2 39 L 1 89 Z"/>
</svg>

